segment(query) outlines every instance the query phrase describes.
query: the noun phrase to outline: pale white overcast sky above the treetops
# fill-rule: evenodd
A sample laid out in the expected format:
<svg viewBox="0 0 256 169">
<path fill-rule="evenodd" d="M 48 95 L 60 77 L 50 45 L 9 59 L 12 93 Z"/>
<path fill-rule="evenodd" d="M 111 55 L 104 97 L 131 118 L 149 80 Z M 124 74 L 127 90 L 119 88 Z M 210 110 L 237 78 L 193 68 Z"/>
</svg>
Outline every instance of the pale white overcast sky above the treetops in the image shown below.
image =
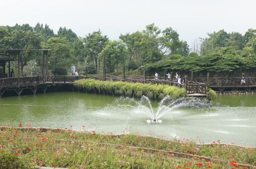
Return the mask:
<svg viewBox="0 0 256 169">
<path fill-rule="evenodd" d="M 207 33 L 256 29 L 255 0 L 11 0 L 0 3 L 0 25 L 48 24 L 57 34 L 59 27 L 85 37 L 98 31 L 111 40 L 120 34 L 145 30 L 155 23 L 160 30 L 172 27 L 180 40 L 191 46 Z"/>
</svg>

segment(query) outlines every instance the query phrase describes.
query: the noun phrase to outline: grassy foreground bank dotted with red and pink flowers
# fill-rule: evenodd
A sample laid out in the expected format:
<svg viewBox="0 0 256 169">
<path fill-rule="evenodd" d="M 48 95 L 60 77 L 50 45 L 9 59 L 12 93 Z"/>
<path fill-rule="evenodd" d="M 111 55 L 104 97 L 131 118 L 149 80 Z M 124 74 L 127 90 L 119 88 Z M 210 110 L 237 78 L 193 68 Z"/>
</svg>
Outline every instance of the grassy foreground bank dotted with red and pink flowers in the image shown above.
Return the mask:
<svg viewBox="0 0 256 169">
<path fill-rule="evenodd" d="M 255 148 L 221 140 L 198 145 L 162 136 L 88 132 L 85 126 L 80 131 L 31 127 L 1 126 L 0 168 L 252 168 L 256 159 Z"/>
</svg>

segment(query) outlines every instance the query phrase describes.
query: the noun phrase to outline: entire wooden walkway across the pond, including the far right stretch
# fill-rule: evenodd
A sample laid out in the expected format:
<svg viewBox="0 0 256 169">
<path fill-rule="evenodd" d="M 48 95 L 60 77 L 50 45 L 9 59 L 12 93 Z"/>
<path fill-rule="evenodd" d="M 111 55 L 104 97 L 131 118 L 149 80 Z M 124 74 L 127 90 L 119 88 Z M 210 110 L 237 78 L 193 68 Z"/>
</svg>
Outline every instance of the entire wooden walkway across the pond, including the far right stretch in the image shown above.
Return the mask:
<svg viewBox="0 0 256 169">
<path fill-rule="evenodd" d="M 79 76 L 79 79 L 87 78 L 102 81 L 140 82 L 176 87 L 179 85 L 176 79 L 172 78 L 173 80 L 170 80 L 166 79 L 166 77 L 158 77 L 158 79 L 155 79 L 153 76 Z M 180 87 L 187 89 L 187 93 L 190 96 L 205 97 L 209 88 L 217 92 L 250 92 L 256 89 L 256 77 L 245 78 L 246 83 L 243 85 L 241 85 L 242 78 L 194 78 L 195 81 L 190 81 L 190 77 L 187 79 L 188 83 Z M 24 90 L 31 90 L 33 94 L 35 94 L 38 89 L 41 89 L 45 93 L 49 87 L 56 85 L 69 85 L 69 87 L 74 90 L 74 80 L 75 76 L 65 75 L 0 78 L 0 97 L 2 97 L 6 91 L 15 91 L 17 95 L 20 95 Z"/>
</svg>

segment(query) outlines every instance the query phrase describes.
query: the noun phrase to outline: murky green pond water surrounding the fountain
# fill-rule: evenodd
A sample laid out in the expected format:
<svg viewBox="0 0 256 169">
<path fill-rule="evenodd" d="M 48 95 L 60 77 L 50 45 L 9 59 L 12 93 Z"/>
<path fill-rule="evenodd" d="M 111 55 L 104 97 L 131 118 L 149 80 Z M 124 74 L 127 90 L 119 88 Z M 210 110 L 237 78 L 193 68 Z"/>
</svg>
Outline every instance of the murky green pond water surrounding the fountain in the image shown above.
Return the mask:
<svg viewBox="0 0 256 169">
<path fill-rule="evenodd" d="M 27 123 L 32 127 L 141 134 L 200 143 L 220 139 L 221 143 L 256 147 L 256 95 L 219 95 L 210 105 L 180 101 L 164 110 L 160 101 L 141 104 L 140 98 L 78 92 L 3 97 L 0 125 Z M 159 111 L 162 123 L 147 123 L 151 120 L 148 111 Z"/>
</svg>

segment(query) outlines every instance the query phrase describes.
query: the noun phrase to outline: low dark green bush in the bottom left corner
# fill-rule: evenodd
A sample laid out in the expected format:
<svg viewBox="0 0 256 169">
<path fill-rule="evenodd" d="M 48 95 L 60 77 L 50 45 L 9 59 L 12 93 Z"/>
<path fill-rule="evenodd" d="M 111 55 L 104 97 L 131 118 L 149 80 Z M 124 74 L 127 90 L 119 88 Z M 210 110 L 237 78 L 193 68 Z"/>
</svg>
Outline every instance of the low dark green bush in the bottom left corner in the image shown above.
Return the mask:
<svg viewBox="0 0 256 169">
<path fill-rule="evenodd" d="M 11 154 L 8 152 L 0 151 L 0 168 L 1 169 L 24 169 L 26 166 L 18 154 Z"/>
</svg>

